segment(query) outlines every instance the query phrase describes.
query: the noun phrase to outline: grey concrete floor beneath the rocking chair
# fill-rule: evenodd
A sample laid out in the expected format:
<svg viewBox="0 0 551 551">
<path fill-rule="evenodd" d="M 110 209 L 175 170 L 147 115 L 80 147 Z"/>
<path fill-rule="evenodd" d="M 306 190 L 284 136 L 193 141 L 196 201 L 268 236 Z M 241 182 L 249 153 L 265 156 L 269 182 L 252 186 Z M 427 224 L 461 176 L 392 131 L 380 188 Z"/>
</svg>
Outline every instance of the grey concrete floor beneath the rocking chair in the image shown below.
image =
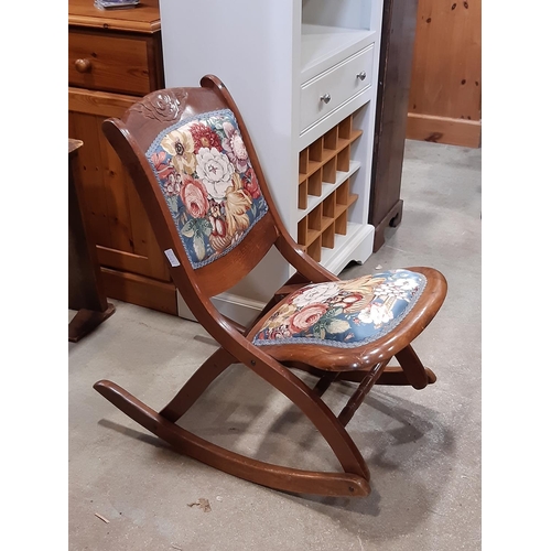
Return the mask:
<svg viewBox="0 0 551 551">
<path fill-rule="evenodd" d="M 436 383 L 375 387 L 348 425 L 370 468 L 371 495 L 259 487 L 172 452 L 123 415 L 95 381 L 111 379 L 162 408 L 214 344 L 194 322 L 114 301 L 112 317 L 69 344 L 71 551 L 480 549 L 480 150 L 408 141 L 402 198 L 401 226 L 341 277 L 432 266 L 445 274 L 449 295 L 414 343 Z M 338 387 L 329 406 L 348 390 Z M 184 419 L 239 452 L 335 467 L 309 423 L 242 366 Z M 209 512 L 190 506 L 199 499 Z"/>
</svg>

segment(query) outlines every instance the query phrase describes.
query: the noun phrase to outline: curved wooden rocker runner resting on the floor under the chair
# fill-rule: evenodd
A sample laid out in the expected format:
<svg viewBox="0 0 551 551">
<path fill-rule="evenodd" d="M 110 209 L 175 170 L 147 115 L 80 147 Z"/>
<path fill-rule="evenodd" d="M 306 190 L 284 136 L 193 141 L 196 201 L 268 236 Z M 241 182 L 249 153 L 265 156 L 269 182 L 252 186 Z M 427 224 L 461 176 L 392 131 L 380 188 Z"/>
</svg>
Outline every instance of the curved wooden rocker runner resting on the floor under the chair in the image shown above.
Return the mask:
<svg viewBox="0 0 551 551">
<path fill-rule="evenodd" d="M 350 497 L 367 496 L 370 493 L 368 478 L 363 475 L 303 471 L 252 460 L 186 431 L 115 382 L 100 380 L 94 388 L 129 418 L 171 444 L 176 452 L 230 475 L 274 489 L 300 494 Z"/>
</svg>

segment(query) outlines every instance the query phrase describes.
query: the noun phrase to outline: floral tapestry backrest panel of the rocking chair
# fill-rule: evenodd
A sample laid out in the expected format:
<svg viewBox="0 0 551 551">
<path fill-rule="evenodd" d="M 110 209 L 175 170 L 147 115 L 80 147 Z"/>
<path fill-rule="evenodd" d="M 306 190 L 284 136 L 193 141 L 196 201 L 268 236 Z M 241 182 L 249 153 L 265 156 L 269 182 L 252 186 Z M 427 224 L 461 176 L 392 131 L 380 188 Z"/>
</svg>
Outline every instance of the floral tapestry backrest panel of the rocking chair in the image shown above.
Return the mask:
<svg viewBox="0 0 551 551">
<path fill-rule="evenodd" d="M 179 120 L 147 158 L 194 269 L 234 249 L 268 212 L 229 109 Z"/>
</svg>

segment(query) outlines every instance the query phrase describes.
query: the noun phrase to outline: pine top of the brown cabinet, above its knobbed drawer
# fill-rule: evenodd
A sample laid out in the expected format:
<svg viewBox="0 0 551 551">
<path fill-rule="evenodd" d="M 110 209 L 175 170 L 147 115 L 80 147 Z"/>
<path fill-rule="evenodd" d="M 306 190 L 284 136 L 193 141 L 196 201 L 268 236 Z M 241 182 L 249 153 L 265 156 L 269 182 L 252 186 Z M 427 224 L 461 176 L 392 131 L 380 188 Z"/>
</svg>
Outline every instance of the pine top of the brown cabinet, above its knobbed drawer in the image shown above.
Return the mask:
<svg viewBox="0 0 551 551">
<path fill-rule="evenodd" d="M 141 0 L 128 10 L 98 10 L 94 0 L 69 0 L 68 24 L 152 33 L 161 29 L 159 0 Z"/>
</svg>

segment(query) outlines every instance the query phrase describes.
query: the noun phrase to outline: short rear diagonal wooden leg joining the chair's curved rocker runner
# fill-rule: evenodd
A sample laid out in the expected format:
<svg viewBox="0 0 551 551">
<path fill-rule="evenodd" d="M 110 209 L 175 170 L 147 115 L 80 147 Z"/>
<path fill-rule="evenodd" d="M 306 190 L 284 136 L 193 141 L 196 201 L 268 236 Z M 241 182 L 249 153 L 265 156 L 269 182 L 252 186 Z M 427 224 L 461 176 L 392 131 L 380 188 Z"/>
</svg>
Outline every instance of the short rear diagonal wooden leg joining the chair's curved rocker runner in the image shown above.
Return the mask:
<svg viewBox="0 0 551 551">
<path fill-rule="evenodd" d="M 218 348 L 192 375 L 177 395 L 160 411 L 160 415 L 175 423 L 199 398 L 207 387 L 237 360 L 224 348 Z"/>
</svg>

